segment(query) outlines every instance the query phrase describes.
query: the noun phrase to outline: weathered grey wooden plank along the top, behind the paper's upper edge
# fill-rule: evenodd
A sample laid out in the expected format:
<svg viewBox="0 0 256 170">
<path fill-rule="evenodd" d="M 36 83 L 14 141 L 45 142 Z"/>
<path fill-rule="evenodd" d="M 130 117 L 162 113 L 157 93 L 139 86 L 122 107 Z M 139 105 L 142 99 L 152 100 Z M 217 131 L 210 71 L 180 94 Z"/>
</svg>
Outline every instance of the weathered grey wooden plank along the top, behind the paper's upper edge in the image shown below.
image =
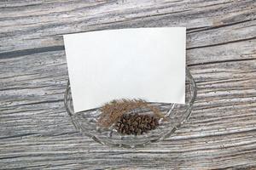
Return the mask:
<svg viewBox="0 0 256 170">
<path fill-rule="evenodd" d="M 80 3 L 72 3 L 73 5 L 70 6 L 70 2 L 61 4 L 60 7 L 56 5 L 62 12 L 56 8 L 50 8 L 53 5 L 51 3 L 33 6 L 33 8 L 25 6 L 19 7 L 21 12 L 18 16 L 14 10 L 7 8 L 0 20 L 0 26 L 2 26 L 0 35 L 3 35 L 0 37 L 4 42 L 0 50 L 9 52 L 62 46 L 61 35 L 63 34 L 141 26 L 186 26 L 192 31 L 191 36 L 188 34 L 188 48 L 255 38 L 256 29 L 253 24 L 255 3 L 253 1 L 209 3 L 182 1 L 181 4 L 142 1 L 141 3 L 122 3 L 122 5 L 115 2 L 100 3 L 98 5 L 84 3 L 87 6 L 92 5 L 90 8 L 83 8 Z M 198 8 L 199 5 L 205 5 L 205 7 Z M 15 17 L 10 17 L 9 14 Z M 73 16 L 77 16 L 75 20 Z"/>
</svg>

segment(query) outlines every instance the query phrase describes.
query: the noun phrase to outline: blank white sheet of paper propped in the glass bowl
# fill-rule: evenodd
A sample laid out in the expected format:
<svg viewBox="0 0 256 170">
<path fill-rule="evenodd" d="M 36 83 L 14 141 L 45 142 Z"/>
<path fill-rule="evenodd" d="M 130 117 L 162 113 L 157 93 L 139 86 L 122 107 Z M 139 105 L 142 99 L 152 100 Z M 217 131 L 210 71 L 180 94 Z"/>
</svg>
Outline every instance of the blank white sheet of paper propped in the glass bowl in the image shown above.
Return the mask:
<svg viewBox="0 0 256 170">
<path fill-rule="evenodd" d="M 113 99 L 185 103 L 184 27 L 64 35 L 75 112 Z"/>
</svg>

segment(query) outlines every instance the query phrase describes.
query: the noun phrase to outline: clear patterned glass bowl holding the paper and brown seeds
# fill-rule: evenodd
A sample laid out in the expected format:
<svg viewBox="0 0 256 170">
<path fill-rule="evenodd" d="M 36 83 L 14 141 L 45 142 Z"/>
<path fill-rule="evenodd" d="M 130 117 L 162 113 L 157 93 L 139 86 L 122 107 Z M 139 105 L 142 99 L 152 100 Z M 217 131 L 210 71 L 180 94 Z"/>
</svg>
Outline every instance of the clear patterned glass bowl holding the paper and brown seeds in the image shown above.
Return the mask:
<svg viewBox="0 0 256 170">
<path fill-rule="evenodd" d="M 84 135 L 89 136 L 101 144 L 109 144 L 119 147 L 140 147 L 151 142 L 160 141 L 171 136 L 177 128 L 189 119 L 192 106 L 196 96 L 196 84 L 189 69 L 186 69 L 186 104 L 165 104 L 148 103 L 158 106 L 160 111 L 166 116 L 168 121 L 160 120 L 160 126 L 142 135 L 124 135 L 118 133 L 113 127 L 108 129 L 98 126 L 97 120 L 101 115 L 100 108 L 90 111 L 74 113 L 73 100 L 69 81 L 64 97 L 67 113 L 71 117 L 73 125 Z"/>
</svg>

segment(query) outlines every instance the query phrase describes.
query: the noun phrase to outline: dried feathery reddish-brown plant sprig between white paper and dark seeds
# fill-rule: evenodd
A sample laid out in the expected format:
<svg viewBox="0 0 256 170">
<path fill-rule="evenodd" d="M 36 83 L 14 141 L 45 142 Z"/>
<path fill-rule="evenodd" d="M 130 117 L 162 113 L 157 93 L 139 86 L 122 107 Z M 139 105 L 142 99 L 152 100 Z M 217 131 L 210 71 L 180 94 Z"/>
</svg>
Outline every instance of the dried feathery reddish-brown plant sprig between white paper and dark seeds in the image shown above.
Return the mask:
<svg viewBox="0 0 256 170">
<path fill-rule="evenodd" d="M 148 105 L 143 99 L 115 99 L 100 109 L 102 114 L 98 120 L 101 127 L 110 127 L 113 123 L 117 122 L 123 114 L 137 110 L 137 109 L 148 109 L 159 118 L 166 117 L 162 115 L 159 108 L 154 105 Z"/>
</svg>

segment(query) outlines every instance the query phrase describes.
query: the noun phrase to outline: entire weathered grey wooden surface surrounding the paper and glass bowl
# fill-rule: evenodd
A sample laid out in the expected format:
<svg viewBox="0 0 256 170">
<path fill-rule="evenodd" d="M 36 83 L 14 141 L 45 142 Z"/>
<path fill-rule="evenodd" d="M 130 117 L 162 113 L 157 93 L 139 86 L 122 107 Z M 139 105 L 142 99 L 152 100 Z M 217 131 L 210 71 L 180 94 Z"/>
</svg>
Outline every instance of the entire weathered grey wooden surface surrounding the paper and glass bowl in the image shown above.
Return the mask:
<svg viewBox="0 0 256 170">
<path fill-rule="evenodd" d="M 255 0 L 0 1 L 0 169 L 256 168 Z M 61 35 L 186 26 L 198 96 L 177 135 L 144 148 L 82 136 L 63 105 Z"/>
</svg>

